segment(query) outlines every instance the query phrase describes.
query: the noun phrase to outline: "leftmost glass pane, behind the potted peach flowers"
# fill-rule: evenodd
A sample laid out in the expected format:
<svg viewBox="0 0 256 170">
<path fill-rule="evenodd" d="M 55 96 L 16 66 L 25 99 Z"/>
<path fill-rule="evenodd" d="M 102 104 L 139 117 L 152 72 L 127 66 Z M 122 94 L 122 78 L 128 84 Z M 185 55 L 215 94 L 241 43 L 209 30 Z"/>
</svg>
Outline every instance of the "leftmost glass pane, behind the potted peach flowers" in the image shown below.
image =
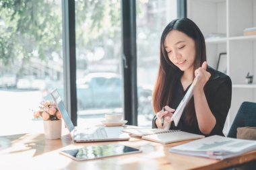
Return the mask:
<svg viewBox="0 0 256 170">
<path fill-rule="evenodd" d="M 0 35 L 0 135 L 41 131 L 33 111 L 63 87 L 61 1 L 1 1 Z"/>
</svg>

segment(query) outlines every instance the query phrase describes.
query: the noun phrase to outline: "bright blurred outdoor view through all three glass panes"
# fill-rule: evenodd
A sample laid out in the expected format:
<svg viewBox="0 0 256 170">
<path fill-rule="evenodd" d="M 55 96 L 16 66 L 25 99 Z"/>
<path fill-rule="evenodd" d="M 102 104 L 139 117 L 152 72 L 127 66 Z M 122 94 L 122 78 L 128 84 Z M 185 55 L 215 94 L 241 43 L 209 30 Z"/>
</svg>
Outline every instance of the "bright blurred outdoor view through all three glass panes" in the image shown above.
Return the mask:
<svg viewBox="0 0 256 170">
<path fill-rule="evenodd" d="M 0 1 L 0 135 L 42 128 L 33 111 L 57 88 L 65 101 L 62 1 Z M 77 125 L 123 114 L 121 0 L 75 1 Z M 151 126 L 162 30 L 175 0 L 136 1 L 137 122 Z"/>
</svg>

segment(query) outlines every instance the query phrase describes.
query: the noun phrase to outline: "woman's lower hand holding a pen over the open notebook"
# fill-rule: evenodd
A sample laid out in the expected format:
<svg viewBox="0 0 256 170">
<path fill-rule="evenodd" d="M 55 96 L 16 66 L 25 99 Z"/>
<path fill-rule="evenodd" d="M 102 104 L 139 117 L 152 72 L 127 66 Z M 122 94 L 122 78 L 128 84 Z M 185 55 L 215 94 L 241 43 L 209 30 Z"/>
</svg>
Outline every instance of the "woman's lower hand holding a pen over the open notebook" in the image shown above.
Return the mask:
<svg viewBox="0 0 256 170">
<path fill-rule="evenodd" d="M 161 110 L 156 114 L 156 126 L 158 128 L 165 128 L 170 124 L 170 118 L 172 118 L 173 112 L 175 111 L 174 109 L 170 108 L 168 105 L 164 106 L 164 112 Z M 164 126 L 161 124 L 161 119 L 164 117 Z"/>
</svg>

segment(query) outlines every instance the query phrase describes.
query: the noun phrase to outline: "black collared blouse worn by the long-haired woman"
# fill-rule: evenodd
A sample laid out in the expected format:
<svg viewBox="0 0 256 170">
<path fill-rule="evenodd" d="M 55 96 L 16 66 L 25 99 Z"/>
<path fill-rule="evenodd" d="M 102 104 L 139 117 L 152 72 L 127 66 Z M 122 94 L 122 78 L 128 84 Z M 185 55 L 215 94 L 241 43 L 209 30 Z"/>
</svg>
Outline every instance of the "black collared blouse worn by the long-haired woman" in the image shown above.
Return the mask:
<svg viewBox="0 0 256 170">
<path fill-rule="evenodd" d="M 224 124 L 226 122 L 226 116 L 228 115 L 228 110 L 230 109 L 230 104 L 231 104 L 231 95 L 232 95 L 231 79 L 230 77 L 228 77 L 228 75 L 225 75 L 224 73 L 216 71 L 212 69 L 212 67 L 208 66 L 207 71 L 211 73 L 211 77 L 209 81 L 207 81 L 207 83 L 205 84 L 204 92 L 205 92 L 205 97 L 207 99 L 209 108 L 212 111 L 212 114 L 214 114 L 214 117 L 216 118 L 216 124 L 212 132 L 210 132 L 210 134 L 207 134 L 207 135 L 203 134 L 199 130 L 197 121 L 195 121 L 194 124 L 187 124 L 185 120 L 186 109 L 183 111 L 181 120 L 179 121 L 179 124 L 177 125 L 177 127 L 174 126 L 174 123 L 172 122 L 170 129 L 174 129 L 174 130 L 179 129 L 179 130 L 182 130 L 185 132 L 191 132 L 194 134 L 203 134 L 205 136 L 212 136 L 214 134 L 224 136 L 222 130 L 224 128 Z M 184 91 L 181 81 L 177 81 L 172 94 L 172 102 L 169 103 L 170 108 L 174 108 L 175 110 L 177 109 L 179 103 L 181 102 L 181 99 L 183 99 L 188 89 L 189 87 L 187 87 L 187 89 Z M 157 128 L 156 116 L 154 116 L 153 118 L 152 128 Z"/>
</svg>

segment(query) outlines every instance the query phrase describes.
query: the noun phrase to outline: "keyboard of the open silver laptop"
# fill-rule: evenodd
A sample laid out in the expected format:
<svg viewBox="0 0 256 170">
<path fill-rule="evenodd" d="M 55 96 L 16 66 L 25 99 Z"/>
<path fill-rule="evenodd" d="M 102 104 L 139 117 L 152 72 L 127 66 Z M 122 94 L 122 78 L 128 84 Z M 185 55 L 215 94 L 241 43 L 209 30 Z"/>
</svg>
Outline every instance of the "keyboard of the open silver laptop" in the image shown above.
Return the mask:
<svg viewBox="0 0 256 170">
<path fill-rule="evenodd" d="M 106 131 L 104 128 L 97 128 L 92 130 L 88 130 L 88 132 L 82 132 L 80 134 L 80 138 L 83 139 L 97 139 L 97 138 L 107 138 Z"/>
</svg>

